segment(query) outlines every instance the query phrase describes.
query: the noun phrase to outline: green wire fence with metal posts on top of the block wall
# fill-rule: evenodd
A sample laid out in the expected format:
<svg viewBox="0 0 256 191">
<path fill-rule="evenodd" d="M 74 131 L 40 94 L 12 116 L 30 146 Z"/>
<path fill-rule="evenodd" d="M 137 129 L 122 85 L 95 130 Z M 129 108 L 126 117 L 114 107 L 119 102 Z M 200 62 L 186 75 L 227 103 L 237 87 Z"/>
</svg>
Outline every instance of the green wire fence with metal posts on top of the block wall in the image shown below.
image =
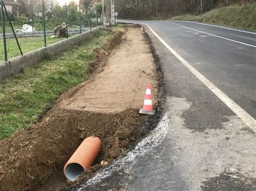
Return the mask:
<svg viewBox="0 0 256 191">
<path fill-rule="evenodd" d="M 8 61 L 35 49 L 46 47 L 59 40 L 92 30 L 99 25 L 97 6 L 77 4 L 64 5 L 58 15 L 46 15 L 44 0 L 42 12 L 31 10 L 30 15 L 14 17 L 1 1 L 0 61 Z M 53 36 L 53 29 L 58 25 L 66 26 L 65 34 Z"/>
</svg>

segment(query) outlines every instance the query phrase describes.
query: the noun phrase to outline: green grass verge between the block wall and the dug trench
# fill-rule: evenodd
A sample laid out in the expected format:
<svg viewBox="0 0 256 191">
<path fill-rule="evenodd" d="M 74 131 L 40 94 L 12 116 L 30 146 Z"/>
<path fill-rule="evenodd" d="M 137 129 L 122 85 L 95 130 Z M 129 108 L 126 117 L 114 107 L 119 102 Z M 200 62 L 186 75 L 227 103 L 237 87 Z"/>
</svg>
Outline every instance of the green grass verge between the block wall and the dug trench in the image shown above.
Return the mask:
<svg viewBox="0 0 256 191">
<path fill-rule="evenodd" d="M 111 35 L 100 31 L 82 45 L 0 82 L 0 140 L 31 126 L 63 91 L 84 81 L 88 63 L 95 60 L 93 50 L 102 47 Z"/>
</svg>

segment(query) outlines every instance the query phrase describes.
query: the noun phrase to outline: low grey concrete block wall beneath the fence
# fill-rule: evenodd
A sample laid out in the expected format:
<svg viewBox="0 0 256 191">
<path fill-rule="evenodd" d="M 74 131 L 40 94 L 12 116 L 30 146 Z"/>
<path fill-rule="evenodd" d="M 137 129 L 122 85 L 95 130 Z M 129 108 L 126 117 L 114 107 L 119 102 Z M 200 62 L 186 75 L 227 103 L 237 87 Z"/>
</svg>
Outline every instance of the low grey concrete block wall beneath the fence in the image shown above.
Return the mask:
<svg viewBox="0 0 256 191">
<path fill-rule="evenodd" d="M 17 56 L 9 61 L 0 63 L 0 81 L 8 79 L 22 73 L 25 67 L 36 66 L 38 63 L 45 59 L 45 56 L 56 56 L 62 52 L 68 51 L 68 49 L 74 45 L 79 45 L 82 41 L 89 38 L 92 34 L 96 33 L 99 29 L 93 29 L 91 31 L 78 34 L 51 44 L 47 47 L 36 49 L 35 51 L 26 53 L 22 56 Z"/>
</svg>

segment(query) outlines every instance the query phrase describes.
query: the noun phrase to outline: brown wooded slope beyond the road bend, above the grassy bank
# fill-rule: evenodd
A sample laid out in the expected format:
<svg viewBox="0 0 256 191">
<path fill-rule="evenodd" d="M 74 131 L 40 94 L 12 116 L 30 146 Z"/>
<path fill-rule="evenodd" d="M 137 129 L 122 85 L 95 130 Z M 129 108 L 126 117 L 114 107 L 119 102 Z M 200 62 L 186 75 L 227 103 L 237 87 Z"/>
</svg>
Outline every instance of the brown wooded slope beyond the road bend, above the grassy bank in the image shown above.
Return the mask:
<svg viewBox="0 0 256 191">
<path fill-rule="evenodd" d="M 118 0 L 119 18 L 164 19 L 183 14 L 200 14 L 233 3 L 255 0 Z M 254 11 L 255 12 L 255 11 Z"/>
</svg>

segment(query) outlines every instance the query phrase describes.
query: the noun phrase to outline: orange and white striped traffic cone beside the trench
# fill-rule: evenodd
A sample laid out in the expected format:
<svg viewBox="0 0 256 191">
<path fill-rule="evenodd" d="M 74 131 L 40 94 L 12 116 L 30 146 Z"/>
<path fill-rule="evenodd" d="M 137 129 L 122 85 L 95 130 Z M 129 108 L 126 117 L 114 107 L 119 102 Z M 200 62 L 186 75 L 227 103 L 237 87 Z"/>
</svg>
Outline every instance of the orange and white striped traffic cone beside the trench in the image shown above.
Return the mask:
<svg viewBox="0 0 256 191">
<path fill-rule="evenodd" d="M 139 110 L 139 114 L 154 115 L 156 111 L 153 110 L 152 98 L 151 98 L 151 84 L 147 84 L 146 94 L 144 97 L 143 109 Z"/>
</svg>

